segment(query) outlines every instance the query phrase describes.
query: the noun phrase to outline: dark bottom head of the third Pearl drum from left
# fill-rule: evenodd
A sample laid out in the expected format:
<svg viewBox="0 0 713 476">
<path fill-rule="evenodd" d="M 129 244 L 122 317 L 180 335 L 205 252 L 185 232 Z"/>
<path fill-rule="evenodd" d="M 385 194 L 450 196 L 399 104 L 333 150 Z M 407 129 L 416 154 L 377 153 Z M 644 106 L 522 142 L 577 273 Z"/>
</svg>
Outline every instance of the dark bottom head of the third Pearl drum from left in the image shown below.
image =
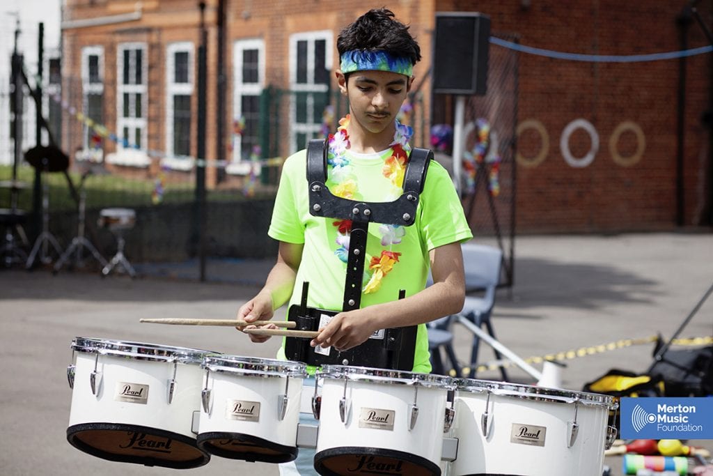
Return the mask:
<svg viewBox="0 0 713 476">
<path fill-rule="evenodd" d="M 397 450 L 356 446 L 317 452 L 314 455 L 314 469 L 322 476 L 441 475 L 441 468 L 424 457 Z"/>
</svg>

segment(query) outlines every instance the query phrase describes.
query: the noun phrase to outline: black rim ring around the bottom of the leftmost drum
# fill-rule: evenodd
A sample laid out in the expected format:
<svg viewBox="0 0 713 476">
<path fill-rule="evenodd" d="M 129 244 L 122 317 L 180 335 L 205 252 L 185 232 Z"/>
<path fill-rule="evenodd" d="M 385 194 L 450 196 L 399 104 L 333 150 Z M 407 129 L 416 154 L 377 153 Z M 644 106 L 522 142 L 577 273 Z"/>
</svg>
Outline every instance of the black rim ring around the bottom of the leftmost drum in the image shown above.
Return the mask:
<svg viewBox="0 0 713 476">
<path fill-rule="evenodd" d="M 96 447 L 88 445 L 83 442 L 77 436 L 78 433 L 94 431 L 94 430 L 111 430 L 111 431 L 125 431 L 125 432 L 144 432 L 148 435 L 158 436 L 162 438 L 170 438 L 177 442 L 183 443 L 190 447 L 194 447 L 201 456 L 195 460 L 185 460 L 185 461 L 172 461 L 164 460 L 160 457 L 155 456 L 136 456 L 136 455 L 121 455 L 120 453 L 113 453 L 104 450 L 99 450 Z M 76 449 L 86 452 L 92 456 L 100 457 L 103 460 L 118 461 L 118 462 L 131 462 L 137 465 L 145 466 L 160 466 L 160 467 L 170 467 L 175 470 L 187 470 L 193 467 L 199 467 L 206 465 L 210 461 L 210 454 L 205 452 L 196 445 L 195 439 L 187 437 L 185 435 L 180 435 L 180 433 L 170 432 L 166 430 L 160 430 L 154 427 L 144 427 L 140 425 L 123 425 L 120 423 L 81 423 L 80 425 L 72 425 L 67 428 L 67 441 Z"/>
</svg>

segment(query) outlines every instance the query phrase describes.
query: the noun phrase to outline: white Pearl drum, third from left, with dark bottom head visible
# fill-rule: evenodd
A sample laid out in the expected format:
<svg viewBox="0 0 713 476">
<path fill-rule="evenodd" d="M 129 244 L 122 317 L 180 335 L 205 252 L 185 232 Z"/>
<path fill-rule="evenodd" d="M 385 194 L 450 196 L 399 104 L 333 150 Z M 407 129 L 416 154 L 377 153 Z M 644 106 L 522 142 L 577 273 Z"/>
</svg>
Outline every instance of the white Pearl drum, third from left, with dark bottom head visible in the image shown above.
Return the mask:
<svg viewBox="0 0 713 476">
<path fill-rule="evenodd" d="M 324 365 L 314 468 L 320 475 L 440 475 L 453 379 Z M 319 402 L 319 404 L 318 404 Z"/>
</svg>

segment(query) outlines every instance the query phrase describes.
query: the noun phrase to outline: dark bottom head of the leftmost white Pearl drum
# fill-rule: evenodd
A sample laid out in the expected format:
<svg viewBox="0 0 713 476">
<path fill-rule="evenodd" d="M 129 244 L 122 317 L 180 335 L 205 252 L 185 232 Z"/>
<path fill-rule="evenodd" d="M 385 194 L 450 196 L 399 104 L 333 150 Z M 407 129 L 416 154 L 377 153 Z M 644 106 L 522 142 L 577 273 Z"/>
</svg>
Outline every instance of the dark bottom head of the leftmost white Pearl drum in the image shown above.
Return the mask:
<svg viewBox="0 0 713 476">
<path fill-rule="evenodd" d="M 83 423 L 67 428 L 67 441 L 104 460 L 185 470 L 205 465 L 210 455 L 195 440 L 158 428 L 116 423 Z"/>
</svg>

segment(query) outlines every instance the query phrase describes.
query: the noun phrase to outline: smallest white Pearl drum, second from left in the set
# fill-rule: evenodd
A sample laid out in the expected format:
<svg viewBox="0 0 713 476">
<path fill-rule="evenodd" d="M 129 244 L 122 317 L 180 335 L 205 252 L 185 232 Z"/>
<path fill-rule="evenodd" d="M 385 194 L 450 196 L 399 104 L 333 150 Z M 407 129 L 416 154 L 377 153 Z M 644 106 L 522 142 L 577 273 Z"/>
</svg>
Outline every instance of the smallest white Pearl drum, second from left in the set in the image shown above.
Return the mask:
<svg viewBox="0 0 713 476">
<path fill-rule="evenodd" d="M 297 426 L 306 365 L 287 360 L 207 355 L 198 447 L 247 461 L 297 457 Z"/>
</svg>

